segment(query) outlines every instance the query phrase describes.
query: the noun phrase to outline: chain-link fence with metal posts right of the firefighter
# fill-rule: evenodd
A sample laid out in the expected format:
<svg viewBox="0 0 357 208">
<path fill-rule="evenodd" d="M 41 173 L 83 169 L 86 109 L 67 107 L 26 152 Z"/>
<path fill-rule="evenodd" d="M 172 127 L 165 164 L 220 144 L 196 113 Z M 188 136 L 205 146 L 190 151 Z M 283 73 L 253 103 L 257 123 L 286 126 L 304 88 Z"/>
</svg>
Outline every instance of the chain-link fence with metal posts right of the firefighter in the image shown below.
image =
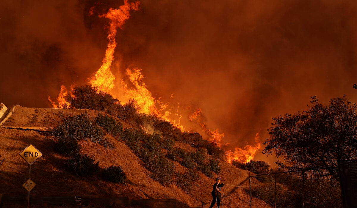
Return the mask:
<svg viewBox="0 0 357 208">
<path fill-rule="evenodd" d="M 249 207 L 342 207 L 338 182 L 313 171 L 249 176 Z"/>
</svg>

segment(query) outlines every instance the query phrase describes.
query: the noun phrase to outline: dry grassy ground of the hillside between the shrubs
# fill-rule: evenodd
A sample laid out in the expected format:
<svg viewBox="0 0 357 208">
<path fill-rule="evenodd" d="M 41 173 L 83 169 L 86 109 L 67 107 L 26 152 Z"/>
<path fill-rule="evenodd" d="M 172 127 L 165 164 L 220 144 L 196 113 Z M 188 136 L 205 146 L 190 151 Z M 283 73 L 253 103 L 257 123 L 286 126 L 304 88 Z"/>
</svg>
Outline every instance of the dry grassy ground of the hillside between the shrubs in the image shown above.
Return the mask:
<svg viewBox="0 0 357 208">
<path fill-rule="evenodd" d="M 177 199 L 182 202 L 178 207 L 208 207 L 211 202 L 213 178 L 200 174 L 200 179 L 193 184 L 193 190 L 186 193 L 175 184 L 167 187 L 151 179 L 151 173 L 136 154 L 126 146 L 106 134 L 116 146 L 110 150 L 90 141 L 79 141 L 81 153 L 88 154 L 99 161 L 100 168 L 120 165 L 126 173 L 125 184 L 115 184 L 104 181 L 100 176 L 75 176 L 67 170 L 65 163 L 70 156 L 55 151 L 56 139 L 52 129 L 62 122 L 63 116 L 80 115 L 87 112 L 90 117 L 96 117 L 98 111 L 77 109 L 26 108 L 15 106 L 11 116 L 0 126 L 0 193 L 27 194 L 22 184 L 28 179 L 29 165 L 19 156 L 19 153 L 32 143 L 43 154 L 31 166 L 31 179 L 37 186 L 32 194 L 53 195 L 101 195 L 128 196 L 131 199 Z M 1 121 L 0 121 L 1 122 Z M 121 121 L 123 127 L 131 126 Z M 196 151 L 190 145 L 175 142 L 175 147 Z M 162 149 L 162 152 L 166 152 Z M 207 158 L 211 156 L 206 154 Z M 185 167 L 175 163 L 176 172 L 184 172 Z M 233 184 L 233 187 L 222 188 L 222 207 L 249 207 L 248 171 L 239 169 L 221 161 L 223 182 Z M 257 181 L 255 181 L 258 183 Z M 270 207 L 259 199 L 253 200 L 253 207 Z M 259 206 L 258 206 L 259 204 Z"/>
</svg>

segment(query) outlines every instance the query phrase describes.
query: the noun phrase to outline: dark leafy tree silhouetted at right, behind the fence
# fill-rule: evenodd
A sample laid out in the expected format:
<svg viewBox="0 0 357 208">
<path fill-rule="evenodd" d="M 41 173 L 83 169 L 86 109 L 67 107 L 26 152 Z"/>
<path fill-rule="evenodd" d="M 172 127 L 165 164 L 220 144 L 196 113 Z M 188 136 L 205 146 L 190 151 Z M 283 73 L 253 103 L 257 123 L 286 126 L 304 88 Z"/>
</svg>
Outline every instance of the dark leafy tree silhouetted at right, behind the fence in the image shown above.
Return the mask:
<svg viewBox="0 0 357 208">
<path fill-rule="evenodd" d="M 340 162 L 357 159 L 357 106 L 343 96 L 322 105 L 312 97 L 309 110 L 273 118 L 264 154 L 284 157 L 280 166 L 314 169 L 341 184 Z"/>
</svg>

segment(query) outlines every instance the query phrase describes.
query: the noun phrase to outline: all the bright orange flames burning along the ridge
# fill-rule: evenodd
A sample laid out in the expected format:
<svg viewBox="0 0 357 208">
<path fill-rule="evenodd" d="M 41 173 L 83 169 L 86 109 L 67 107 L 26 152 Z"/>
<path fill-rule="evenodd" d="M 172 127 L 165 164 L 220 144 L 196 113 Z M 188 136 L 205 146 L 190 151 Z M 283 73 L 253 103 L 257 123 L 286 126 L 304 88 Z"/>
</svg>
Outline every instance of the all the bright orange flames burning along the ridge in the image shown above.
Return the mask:
<svg viewBox="0 0 357 208">
<path fill-rule="evenodd" d="M 99 17 L 105 17 L 109 19 L 109 25 L 106 26 L 108 32 L 108 45 L 105 51 L 105 58 L 103 59 L 102 66 L 97 70 L 95 75 L 90 78 L 89 84 L 96 87 L 98 91 L 102 91 L 117 98 L 122 105 L 129 100 L 134 100 L 137 105 L 137 111 L 146 115 L 155 115 L 163 120 L 170 122 L 175 127 L 184 132 L 184 127 L 181 124 L 181 118 L 184 112 L 178 110 L 173 111 L 175 106 L 170 106 L 170 103 L 162 103 L 159 99 L 152 96 L 152 93 L 147 89 L 141 69 L 126 69 L 126 76 L 130 80 L 130 84 L 133 87 L 129 87 L 124 80 L 116 79 L 111 71 L 110 66 L 114 60 L 114 51 L 116 48 L 115 35 L 117 34 L 117 28 L 123 29 L 123 25 L 126 20 L 130 18 L 130 10 L 139 10 L 139 1 L 129 3 L 128 0 L 124 1 L 124 5 L 119 9 L 110 8 L 106 14 L 99 14 Z M 94 15 L 93 7 L 89 12 L 89 15 Z M 71 86 L 72 89 L 73 86 Z M 115 92 L 113 89 L 116 89 Z M 119 92 L 119 93 L 116 93 Z M 68 91 L 65 86 L 61 86 L 61 91 L 57 97 L 58 105 L 49 97 L 54 108 L 66 108 L 70 107 L 70 103 L 65 100 Z M 73 95 L 70 95 L 73 96 Z M 171 95 L 174 97 L 174 94 Z M 178 108 L 177 108 L 178 109 Z M 237 160 L 242 163 L 247 163 L 254 158 L 256 152 L 261 149 L 258 133 L 255 138 L 255 146 L 246 145 L 243 149 L 235 147 L 235 151 L 229 150 L 231 145 L 226 143 L 222 145 L 222 138 L 224 133 L 219 133 L 218 129 L 210 130 L 206 121 L 202 118 L 202 110 L 197 109 L 192 115 L 188 116 L 188 120 L 196 122 L 201 127 L 202 131 L 207 135 L 207 140 L 212 142 L 217 147 L 227 149 L 226 156 L 227 162 L 232 163 L 233 160 Z"/>
</svg>

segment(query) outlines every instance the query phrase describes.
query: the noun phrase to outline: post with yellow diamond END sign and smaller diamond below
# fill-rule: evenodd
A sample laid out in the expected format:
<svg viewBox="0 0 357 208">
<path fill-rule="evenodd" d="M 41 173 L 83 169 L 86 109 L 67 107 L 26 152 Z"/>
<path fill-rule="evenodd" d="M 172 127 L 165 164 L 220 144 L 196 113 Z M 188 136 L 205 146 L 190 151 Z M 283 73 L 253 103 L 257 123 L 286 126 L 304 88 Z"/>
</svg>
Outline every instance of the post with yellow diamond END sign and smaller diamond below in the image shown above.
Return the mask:
<svg viewBox="0 0 357 208">
<path fill-rule="evenodd" d="M 36 186 L 36 183 L 31 180 L 31 164 L 34 163 L 38 158 L 40 158 L 42 156 L 42 153 L 38 149 L 36 149 L 35 146 L 30 144 L 24 150 L 22 150 L 20 156 L 24 158 L 24 160 L 30 165 L 29 179 L 24 184 L 22 184 L 22 186 L 29 192 L 27 208 L 30 208 L 30 191 Z"/>
</svg>

